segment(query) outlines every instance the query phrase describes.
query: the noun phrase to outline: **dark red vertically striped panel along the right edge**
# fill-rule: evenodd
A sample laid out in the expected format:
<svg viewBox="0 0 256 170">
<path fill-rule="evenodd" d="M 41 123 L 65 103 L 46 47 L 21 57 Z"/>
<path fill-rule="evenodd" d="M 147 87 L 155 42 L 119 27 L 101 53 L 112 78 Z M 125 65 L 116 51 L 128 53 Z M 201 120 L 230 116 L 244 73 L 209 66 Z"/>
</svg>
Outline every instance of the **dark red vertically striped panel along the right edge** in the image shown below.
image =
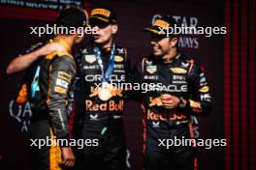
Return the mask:
<svg viewBox="0 0 256 170">
<path fill-rule="evenodd" d="M 255 169 L 255 0 L 225 2 L 225 169 Z"/>
</svg>

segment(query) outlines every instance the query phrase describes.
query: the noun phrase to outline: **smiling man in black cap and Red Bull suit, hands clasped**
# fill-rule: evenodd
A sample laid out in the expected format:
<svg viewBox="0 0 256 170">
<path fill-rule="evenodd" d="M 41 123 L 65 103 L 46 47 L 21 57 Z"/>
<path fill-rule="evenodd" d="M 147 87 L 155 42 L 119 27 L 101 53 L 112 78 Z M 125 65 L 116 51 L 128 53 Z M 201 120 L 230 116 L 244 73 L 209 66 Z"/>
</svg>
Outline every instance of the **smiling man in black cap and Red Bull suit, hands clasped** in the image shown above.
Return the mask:
<svg viewBox="0 0 256 170">
<path fill-rule="evenodd" d="M 178 35 L 170 34 L 175 25 L 174 18 L 164 16 L 144 29 L 151 33 L 152 54 L 135 69 L 142 82 L 161 83 L 145 93 L 142 104 L 146 170 L 194 170 L 195 145 L 167 145 L 175 138 L 193 139 L 191 116 L 206 116 L 210 110 L 206 72 L 178 52 Z"/>
</svg>

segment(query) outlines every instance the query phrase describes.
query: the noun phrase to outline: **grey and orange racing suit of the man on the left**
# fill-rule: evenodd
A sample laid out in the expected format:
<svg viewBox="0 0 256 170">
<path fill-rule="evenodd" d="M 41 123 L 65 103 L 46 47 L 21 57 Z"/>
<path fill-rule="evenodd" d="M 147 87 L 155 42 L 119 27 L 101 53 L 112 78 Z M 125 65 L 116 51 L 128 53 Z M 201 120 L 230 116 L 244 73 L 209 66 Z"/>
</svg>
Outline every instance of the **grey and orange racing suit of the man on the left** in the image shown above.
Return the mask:
<svg viewBox="0 0 256 170">
<path fill-rule="evenodd" d="M 58 39 L 53 41 L 64 43 Z M 33 50 L 42 45 L 39 43 Z M 60 147 L 69 146 L 68 107 L 73 96 L 75 74 L 76 63 L 67 49 L 37 60 L 20 84 L 16 102 L 29 101 L 32 110 L 26 133 L 32 169 L 61 169 Z"/>
</svg>

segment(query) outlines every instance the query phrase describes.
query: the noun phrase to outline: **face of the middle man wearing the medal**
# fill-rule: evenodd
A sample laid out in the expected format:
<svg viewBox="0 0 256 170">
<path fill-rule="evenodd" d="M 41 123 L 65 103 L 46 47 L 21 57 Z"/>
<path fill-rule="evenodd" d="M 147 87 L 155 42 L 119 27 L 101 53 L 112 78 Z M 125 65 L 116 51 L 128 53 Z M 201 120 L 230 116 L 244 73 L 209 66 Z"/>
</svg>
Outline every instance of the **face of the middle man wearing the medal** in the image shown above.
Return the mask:
<svg viewBox="0 0 256 170">
<path fill-rule="evenodd" d="M 117 31 L 117 25 L 108 23 L 94 23 L 92 27 L 96 30 L 96 33 L 93 32 L 92 34 L 93 40 L 99 44 L 107 43 L 112 40 L 113 35 Z"/>
</svg>

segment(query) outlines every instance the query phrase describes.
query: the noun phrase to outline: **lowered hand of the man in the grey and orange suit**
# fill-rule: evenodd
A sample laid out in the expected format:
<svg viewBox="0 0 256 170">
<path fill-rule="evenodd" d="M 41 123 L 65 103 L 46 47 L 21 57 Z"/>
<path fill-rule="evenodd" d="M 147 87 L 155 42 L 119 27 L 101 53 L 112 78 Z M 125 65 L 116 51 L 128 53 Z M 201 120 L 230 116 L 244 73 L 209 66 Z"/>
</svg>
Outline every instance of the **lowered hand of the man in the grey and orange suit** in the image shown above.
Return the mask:
<svg viewBox="0 0 256 170">
<path fill-rule="evenodd" d="M 61 154 L 62 154 L 62 162 L 60 163 L 61 165 L 64 165 L 67 167 L 73 167 L 75 165 L 76 156 L 74 156 L 71 147 L 62 147 Z"/>
</svg>

